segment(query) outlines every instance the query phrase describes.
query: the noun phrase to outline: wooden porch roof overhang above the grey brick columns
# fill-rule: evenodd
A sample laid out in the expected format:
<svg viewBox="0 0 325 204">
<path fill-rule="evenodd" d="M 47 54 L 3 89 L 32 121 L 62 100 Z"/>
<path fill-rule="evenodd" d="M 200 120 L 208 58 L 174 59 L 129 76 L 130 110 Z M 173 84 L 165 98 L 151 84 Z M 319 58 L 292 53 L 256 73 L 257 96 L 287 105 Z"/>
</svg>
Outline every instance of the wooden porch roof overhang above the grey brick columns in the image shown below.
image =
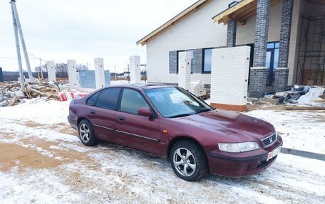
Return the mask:
<svg viewBox="0 0 325 204">
<path fill-rule="evenodd" d="M 271 0 L 271 4 L 276 3 L 279 0 Z M 257 0 L 242 0 L 238 4 L 222 11 L 220 14 L 212 17 L 214 23 L 224 23 L 227 25 L 228 21 L 237 21 L 244 25 L 246 19 L 256 14 Z"/>
</svg>

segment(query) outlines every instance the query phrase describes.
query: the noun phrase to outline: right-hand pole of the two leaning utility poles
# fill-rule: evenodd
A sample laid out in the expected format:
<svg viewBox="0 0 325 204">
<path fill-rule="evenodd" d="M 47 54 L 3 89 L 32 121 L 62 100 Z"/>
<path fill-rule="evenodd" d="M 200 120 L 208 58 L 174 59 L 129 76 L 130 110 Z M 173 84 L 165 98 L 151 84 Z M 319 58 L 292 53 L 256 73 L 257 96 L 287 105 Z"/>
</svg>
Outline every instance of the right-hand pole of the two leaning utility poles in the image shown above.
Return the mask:
<svg viewBox="0 0 325 204">
<path fill-rule="evenodd" d="M 14 18 L 16 20 L 16 27 L 18 28 L 18 31 L 19 31 L 19 37 L 21 38 L 21 46 L 22 46 L 23 51 L 24 51 L 26 67 L 27 67 L 27 71 L 29 73 L 29 80 L 31 82 L 35 82 L 34 79 L 33 79 L 33 75 L 31 73 L 31 64 L 29 63 L 29 54 L 27 53 L 26 44 L 25 44 L 25 40 L 24 40 L 24 35 L 23 35 L 23 31 L 21 29 L 21 23 L 19 21 L 18 11 L 17 11 L 17 8 L 16 8 L 16 0 L 11 0 L 11 9 L 13 11 Z M 19 50 L 19 52 L 20 52 L 20 50 Z"/>
</svg>

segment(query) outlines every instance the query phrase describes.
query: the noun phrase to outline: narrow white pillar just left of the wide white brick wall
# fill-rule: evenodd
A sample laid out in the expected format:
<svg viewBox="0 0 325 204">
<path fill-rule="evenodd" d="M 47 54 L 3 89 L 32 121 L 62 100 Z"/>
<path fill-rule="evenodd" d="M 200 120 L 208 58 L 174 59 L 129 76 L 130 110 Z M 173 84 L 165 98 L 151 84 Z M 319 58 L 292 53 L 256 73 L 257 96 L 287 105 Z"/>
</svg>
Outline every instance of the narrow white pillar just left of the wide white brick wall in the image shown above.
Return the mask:
<svg viewBox="0 0 325 204">
<path fill-rule="evenodd" d="M 191 86 L 191 60 L 189 51 L 178 53 L 178 86 L 190 90 Z"/>
</svg>

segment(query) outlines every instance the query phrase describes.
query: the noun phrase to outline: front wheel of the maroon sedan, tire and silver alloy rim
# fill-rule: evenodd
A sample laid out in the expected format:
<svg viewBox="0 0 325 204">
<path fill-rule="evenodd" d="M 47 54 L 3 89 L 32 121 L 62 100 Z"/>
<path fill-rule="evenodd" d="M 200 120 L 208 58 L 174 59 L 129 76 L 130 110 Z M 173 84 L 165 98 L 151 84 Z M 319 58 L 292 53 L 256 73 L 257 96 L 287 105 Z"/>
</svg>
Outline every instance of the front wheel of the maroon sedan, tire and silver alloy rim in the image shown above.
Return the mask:
<svg viewBox="0 0 325 204">
<path fill-rule="evenodd" d="M 207 158 L 193 141 L 178 141 L 170 150 L 170 163 L 176 175 L 185 181 L 198 181 L 208 172 Z"/>
</svg>

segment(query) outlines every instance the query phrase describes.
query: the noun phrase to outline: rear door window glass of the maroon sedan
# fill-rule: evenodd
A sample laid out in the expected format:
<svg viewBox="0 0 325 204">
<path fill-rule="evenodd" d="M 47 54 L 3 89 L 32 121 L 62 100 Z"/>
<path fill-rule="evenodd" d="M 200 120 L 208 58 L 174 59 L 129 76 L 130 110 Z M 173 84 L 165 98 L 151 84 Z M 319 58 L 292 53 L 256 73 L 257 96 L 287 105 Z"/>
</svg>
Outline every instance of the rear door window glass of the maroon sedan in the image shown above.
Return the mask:
<svg viewBox="0 0 325 204">
<path fill-rule="evenodd" d="M 117 109 L 118 95 L 120 95 L 120 88 L 108 88 L 103 90 L 98 96 L 96 106 L 105 109 Z"/>
</svg>

